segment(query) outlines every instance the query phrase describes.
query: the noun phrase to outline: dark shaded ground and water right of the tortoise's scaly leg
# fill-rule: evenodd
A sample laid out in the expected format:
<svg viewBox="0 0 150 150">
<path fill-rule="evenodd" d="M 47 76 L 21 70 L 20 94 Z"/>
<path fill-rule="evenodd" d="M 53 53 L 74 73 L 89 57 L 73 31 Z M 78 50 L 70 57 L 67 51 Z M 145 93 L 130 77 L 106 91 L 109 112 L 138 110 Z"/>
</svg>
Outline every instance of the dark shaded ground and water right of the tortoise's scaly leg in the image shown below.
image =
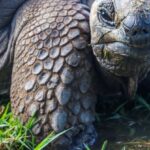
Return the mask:
<svg viewBox="0 0 150 150">
<path fill-rule="evenodd" d="M 109 111 L 105 103 L 96 116 L 98 141 L 90 149 L 99 150 L 105 143 L 106 148 L 101 150 L 150 150 L 149 100 L 150 94 L 145 98 L 136 96 L 132 101 L 112 105 Z"/>
</svg>

